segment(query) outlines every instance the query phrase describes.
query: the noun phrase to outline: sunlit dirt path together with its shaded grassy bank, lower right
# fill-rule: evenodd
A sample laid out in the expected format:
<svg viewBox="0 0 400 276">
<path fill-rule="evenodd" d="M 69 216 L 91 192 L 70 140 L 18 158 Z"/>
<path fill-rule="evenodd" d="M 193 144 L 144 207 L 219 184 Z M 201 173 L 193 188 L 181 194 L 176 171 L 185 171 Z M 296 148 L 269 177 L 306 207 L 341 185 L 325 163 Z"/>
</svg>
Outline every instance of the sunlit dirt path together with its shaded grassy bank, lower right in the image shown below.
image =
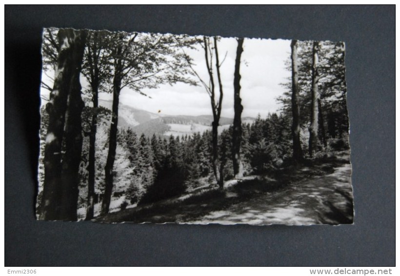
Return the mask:
<svg viewBox="0 0 400 276">
<path fill-rule="evenodd" d="M 315 167 L 300 169 L 309 175 Z M 351 165 L 336 166 L 330 173 L 303 178 L 270 191 L 257 187 L 233 186 L 224 192 L 210 191 L 211 196 L 172 199 L 148 206 L 127 209 L 102 217 L 103 222 L 153 222 L 188 224 L 255 225 L 342 224 L 353 221 Z M 262 185 L 270 185 L 261 182 Z M 282 183 L 280 183 L 282 184 Z M 249 193 L 250 194 L 243 194 Z M 182 198 L 182 197 L 180 197 Z"/>
</svg>

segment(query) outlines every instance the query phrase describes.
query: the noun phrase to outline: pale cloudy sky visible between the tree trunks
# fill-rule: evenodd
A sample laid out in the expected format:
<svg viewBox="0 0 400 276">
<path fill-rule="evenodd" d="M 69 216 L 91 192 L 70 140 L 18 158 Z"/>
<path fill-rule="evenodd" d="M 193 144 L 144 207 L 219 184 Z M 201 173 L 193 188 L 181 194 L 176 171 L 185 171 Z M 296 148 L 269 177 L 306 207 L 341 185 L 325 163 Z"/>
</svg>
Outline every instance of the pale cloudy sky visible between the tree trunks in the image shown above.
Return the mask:
<svg viewBox="0 0 400 276">
<path fill-rule="evenodd" d="M 220 67 L 223 84 L 222 117 L 233 118 L 233 79 L 237 40 L 222 38 L 218 42 L 220 60 L 227 53 Z M 204 50 L 199 45 L 198 51 L 186 51 L 194 60 L 195 70 L 208 82 L 208 74 L 204 59 Z M 268 113 L 276 112 L 280 106 L 276 98 L 284 89 L 280 83 L 287 81 L 290 72 L 285 69 L 284 62 L 290 56 L 290 40 L 282 39 L 244 39 L 241 56 L 240 74 L 243 112 L 242 117 L 265 118 Z M 214 70 L 215 71 L 215 70 Z M 54 74 L 54 73 L 53 73 Z M 43 77 L 45 79 L 45 77 Z M 195 77 L 194 77 L 195 78 Z M 218 94 L 218 82 L 216 93 Z M 85 83 L 82 81 L 82 86 Z M 191 86 L 184 83 L 161 85 L 158 89 L 144 89 L 144 93 L 152 99 L 124 88 L 120 94 L 120 104 L 166 115 L 211 115 L 210 98 L 203 86 Z M 48 91 L 43 91 L 48 95 Z M 100 99 L 112 99 L 112 94 L 100 93 Z"/>
</svg>

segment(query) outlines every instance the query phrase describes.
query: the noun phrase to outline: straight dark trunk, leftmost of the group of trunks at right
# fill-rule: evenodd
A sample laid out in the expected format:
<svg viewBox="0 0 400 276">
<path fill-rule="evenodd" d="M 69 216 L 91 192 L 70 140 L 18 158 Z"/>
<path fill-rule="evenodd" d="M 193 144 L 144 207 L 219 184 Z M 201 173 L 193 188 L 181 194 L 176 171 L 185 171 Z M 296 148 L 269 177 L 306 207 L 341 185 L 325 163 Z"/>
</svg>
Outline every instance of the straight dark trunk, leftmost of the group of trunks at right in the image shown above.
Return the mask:
<svg viewBox="0 0 400 276">
<path fill-rule="evenodd" d="M 297 40 L 292 40 L 292 137 L 293 137 L 293 159 L 301 161 L 303 153 L 300 143 L 300 106 L 299 106 L 299 73 L 297 65 Z"/>
</svg>

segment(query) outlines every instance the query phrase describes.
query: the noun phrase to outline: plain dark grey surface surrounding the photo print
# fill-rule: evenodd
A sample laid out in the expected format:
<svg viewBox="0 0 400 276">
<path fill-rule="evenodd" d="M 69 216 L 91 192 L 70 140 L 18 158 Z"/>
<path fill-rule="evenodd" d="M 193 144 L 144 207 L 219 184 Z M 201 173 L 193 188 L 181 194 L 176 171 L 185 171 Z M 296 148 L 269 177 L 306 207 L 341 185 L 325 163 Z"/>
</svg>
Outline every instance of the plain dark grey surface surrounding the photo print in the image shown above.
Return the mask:
<svg viewBox="0 0 400 276">
<path fill-rule="evenodd" d="M 354 225 L 34 217 L 43 27 L 346 42 Z M 268 78 L 268 76 L 265 76 Z M 395 265 L 395 6 L 5 6 L 5 265 Z"/>
</svg>

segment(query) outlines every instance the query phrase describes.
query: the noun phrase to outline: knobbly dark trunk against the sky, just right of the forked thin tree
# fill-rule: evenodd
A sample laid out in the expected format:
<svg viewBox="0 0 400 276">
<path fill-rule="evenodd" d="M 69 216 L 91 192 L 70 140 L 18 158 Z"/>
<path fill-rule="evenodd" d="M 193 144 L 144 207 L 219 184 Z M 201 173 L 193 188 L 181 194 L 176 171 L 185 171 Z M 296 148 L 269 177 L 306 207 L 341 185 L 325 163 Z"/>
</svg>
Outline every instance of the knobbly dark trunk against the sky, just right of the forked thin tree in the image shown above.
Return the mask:
<svg viewBox="0 0 400 276">
<path fill-rule="evenodd" d="M 235 73 L 233 79 L 234 88 L 234 110 L 235 116 L 233 118 L 233 132 L 232 132 L 232 162 L 233 162 L 233 172 L 235 178 L 243 176 L 243 165 L 240 160 L 240 143 L 241 143 L 241 112 L 243 111 L 243 106 L 241 105 L 240 98 L 240 58 L 243 52 L 243 39 L 238 39 L 238 48 L 236 50 L 236 60 L 235 60 Z"/>
</svg>

